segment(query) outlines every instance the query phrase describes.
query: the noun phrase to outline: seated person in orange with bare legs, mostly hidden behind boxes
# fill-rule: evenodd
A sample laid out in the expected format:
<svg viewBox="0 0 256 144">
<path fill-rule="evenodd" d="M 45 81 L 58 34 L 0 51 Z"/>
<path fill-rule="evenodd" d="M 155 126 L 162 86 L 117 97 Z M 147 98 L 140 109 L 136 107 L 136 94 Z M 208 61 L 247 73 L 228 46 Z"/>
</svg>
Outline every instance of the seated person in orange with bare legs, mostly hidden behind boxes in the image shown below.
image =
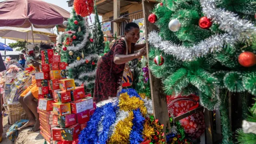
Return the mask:
<svg viewBox="0 0 256 144">
<path fill-rule="evenodd" d="M 39 51 L 52 49 L 50 44 L 41 43 Z M 40 63 L 36 60 L 31 60 L 31 63 L 34 67 L 39 69 Z M 28 134 L 37 132 L 40 130 L 40 121 L 39 114 L 37 113 L 37 102 L 34 101 L 38 99 L 38 87 L 36 86 L 35 76 L 32 76 L 32 84 L 29 86 L 22 94 L 19 96 L 19 102 L 22 104 L 26 113 L 28 114 L 28 122 L 24 124 L 22 127 L 18 128 L 18 130 L 22 130 L 24 128 L 34 126 L 31 130 L 28 131 Z"/>
</svg>

